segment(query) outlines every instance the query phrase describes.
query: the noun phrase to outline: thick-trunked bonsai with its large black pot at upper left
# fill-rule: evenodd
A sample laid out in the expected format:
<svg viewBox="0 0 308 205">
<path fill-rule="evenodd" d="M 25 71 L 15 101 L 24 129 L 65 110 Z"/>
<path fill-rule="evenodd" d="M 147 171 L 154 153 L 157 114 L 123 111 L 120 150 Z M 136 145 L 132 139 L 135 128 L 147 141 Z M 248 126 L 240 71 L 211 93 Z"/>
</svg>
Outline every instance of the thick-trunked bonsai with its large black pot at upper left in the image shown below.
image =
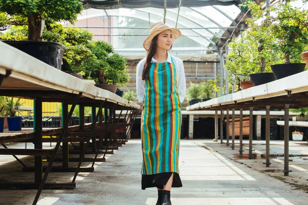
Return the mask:
<svg viewBox="0 0 308 205">
<path fill-rule="evenodd" d="M 0 0 L 0 12 L 9 15 L 20 15 L 28 21 L 27 41 L 5 41 L 5 43 L 20 49 L 45 63 L 61 69 L 62 57 L 66 48 L 54 42 L 42 42 L 42 30 L 45 19 L 54 22 L 69 20 L 73 22 L 82 11 L 79 0 L 42 0 L 42 1 L 6 1 Z"/>
</svg>

